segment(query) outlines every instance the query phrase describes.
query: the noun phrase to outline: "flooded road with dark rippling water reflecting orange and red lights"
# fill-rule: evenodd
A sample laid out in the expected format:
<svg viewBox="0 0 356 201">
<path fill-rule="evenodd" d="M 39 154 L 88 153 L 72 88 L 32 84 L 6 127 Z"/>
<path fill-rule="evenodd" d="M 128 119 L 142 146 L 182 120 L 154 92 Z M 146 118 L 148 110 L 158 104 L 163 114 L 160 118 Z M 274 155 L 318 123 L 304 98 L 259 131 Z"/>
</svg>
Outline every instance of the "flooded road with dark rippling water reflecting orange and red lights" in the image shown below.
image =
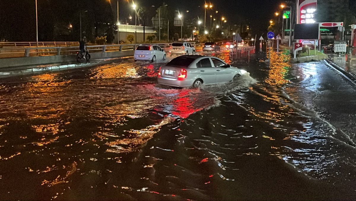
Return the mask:
<svg viewBox="0 0 356 201">
<path fill-rule="evenodd" d="M 355 200 L 355 89 L 287 59 L 198 89 L 132 61 L 2 79 L 0 200 Z"/>
</svg>

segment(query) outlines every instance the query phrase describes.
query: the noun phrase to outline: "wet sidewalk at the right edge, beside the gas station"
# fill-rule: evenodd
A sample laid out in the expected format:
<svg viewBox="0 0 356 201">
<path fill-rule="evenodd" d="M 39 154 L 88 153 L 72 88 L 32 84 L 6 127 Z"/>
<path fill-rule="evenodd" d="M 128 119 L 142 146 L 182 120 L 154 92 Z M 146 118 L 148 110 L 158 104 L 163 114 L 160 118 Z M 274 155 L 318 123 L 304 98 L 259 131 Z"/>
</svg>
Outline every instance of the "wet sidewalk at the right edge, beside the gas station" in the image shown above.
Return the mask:
<svg viewBox="0 0 356 201">
<path fill-rule="evenodd" d="M 356 85 L 356 52 L 345 55 L 328 53 L 327 55 L 329 59 L 324 61 Z"/>
</svg>

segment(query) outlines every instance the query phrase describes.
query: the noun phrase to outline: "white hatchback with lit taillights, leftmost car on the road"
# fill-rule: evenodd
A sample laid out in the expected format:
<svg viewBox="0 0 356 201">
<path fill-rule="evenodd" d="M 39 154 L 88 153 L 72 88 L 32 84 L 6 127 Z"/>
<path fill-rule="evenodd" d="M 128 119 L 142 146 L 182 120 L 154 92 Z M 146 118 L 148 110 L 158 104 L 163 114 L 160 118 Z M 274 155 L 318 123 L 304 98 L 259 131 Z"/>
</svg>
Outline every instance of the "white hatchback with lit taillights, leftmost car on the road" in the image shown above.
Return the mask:
<svg viewBox="0 0 356 201">
<path fill-rule="evenodd" d="M 158 45 L 139 45 L 135 54 L 133 55 L 133 60 L 145 60 L 145 61 L 156 61 L 157 59 L 165 60 L 166 52 Z"/>
</svg>

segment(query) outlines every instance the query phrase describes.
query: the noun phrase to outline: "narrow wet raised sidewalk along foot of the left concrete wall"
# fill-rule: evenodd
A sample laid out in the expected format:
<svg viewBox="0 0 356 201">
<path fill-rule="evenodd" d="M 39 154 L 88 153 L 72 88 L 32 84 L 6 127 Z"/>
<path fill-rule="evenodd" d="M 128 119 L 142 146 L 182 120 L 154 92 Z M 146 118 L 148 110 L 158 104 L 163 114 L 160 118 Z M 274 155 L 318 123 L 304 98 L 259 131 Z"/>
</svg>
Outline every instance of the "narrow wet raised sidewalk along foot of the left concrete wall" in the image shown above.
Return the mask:
<svg viewBox="0 0 356 201">
<path fill-rule="evenodd" d="M 0 68 L 0 78 L 10 77 L 10 76 L 21 76 L 24 74 L 43 73 L 47 71 L 62 71 L 66 69 L 104 65 L 112 62 L 120 62 L 124 58 L 130 58 L 130 57 L 102 58 L 102 59 L 96 59 L 90 61 L 82 60 L 81 62 L 75 61 L 75 62 L 63 62 L 63 63 L 49 63 L 45 65 L 28 65 L 28 66 Z"/>
</svg>

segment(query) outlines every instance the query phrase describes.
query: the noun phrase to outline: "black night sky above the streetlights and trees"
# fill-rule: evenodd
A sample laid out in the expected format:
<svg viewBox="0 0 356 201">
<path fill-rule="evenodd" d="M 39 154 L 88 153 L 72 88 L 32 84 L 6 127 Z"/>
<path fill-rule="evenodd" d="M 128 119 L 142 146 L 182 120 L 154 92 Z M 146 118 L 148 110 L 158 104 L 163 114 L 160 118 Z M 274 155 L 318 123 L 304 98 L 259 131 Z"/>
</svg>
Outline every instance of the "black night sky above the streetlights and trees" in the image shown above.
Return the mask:
<svg viewBox="0 0 356 201">
<path fill-rule="evenodd" d="M 111 0 L 111 9 L 108 0 L 37 0 L 38 2 L 38 23 L 39 32 L 47 30 L 46 26 L 53 24 L 53 19 L 75 23 L 78 21 L 78 14 L 75 11 L 94 9 L 100 11 L 101 15 L 116 16 L 116 2 Z M 80 6 L 81 3 L 86 4 Z M 185 17 L 197 17 L 204 21 L 204 0 L 137 0 L 138 7 L 146 6 L 152 9 L 152 5 L 157 9 L 165 2 L 173 10 L 183 11 Z M 261 35 L 267 31 L 269 19 L 273 18 L 273 13 L 278 11 L 280 0 L 212 0 L 213 13 L 219 11 L 218 16 L 226 17 L 230 24 L 239 24 L 241 21 L 250 25 L 252 34 Z M 210 1 L 207 1 L 209 4 Z M 125 18 L 134 15 L 127 0 L 119 0 L 120 21 L 125 22 Z M 76 13 L 76 14 L 74 14 Z M 177 13 L 172 13 L 172 15 Z M 207 24 L 210 22 L 210 11 L 207 14 Z M 116 17 L 115 17 L 116 18 Z M 209 19 L 209 20 L 208 20 Z M 74 25 L 73 25 L 74 26 Z M 0 0 L 0 38 L 9 38 L 13 35 L 16 40 L 33 41 L 36 38 L 36 12 L 35 0 Z M 41 38 L 41 35 L 39 36 Z M 45 38 L 42 38 L 46 40 Z"/>
</svg>

